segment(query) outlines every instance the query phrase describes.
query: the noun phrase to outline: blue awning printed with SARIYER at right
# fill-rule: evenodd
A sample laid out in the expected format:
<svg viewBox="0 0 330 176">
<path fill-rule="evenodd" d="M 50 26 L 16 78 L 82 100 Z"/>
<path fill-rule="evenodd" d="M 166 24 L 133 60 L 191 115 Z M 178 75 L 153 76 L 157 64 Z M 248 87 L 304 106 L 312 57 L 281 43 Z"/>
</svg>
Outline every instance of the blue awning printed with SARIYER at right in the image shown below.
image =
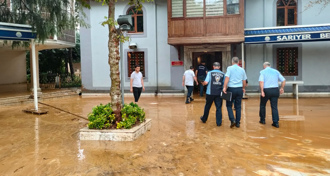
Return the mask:
<svg viewBox="0 0 330 176">
<path fill-rule="evenodd" d="M 330 24 L 244 29 L 244 44 L 329 41 Z"/>
</svg>

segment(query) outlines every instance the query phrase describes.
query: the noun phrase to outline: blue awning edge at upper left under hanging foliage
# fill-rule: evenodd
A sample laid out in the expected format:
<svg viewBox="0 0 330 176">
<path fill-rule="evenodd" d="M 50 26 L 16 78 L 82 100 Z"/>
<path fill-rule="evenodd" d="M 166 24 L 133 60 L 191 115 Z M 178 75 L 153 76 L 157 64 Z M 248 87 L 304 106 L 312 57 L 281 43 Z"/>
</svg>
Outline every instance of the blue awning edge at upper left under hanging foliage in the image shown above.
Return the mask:
<svg viewBox="0 0 330 176">
<path fill-rule="evenodd" d="M 31 26 L 0 22 L 0 40 L 29 41 L 37 38 Z"/>
</svg>

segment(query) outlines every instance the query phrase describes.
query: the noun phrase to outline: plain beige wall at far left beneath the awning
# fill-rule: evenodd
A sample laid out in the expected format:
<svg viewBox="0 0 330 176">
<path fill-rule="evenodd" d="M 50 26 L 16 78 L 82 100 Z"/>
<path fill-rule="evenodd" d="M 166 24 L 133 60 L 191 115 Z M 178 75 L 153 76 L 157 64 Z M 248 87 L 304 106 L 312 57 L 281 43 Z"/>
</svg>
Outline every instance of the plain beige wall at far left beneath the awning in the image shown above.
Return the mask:
<svg viewBox="0 0 330 176">
<path fill-rule="evenodd" d="M 0 52 L 0 85 L 26 83 L 25 51 Z"/>
</svg>

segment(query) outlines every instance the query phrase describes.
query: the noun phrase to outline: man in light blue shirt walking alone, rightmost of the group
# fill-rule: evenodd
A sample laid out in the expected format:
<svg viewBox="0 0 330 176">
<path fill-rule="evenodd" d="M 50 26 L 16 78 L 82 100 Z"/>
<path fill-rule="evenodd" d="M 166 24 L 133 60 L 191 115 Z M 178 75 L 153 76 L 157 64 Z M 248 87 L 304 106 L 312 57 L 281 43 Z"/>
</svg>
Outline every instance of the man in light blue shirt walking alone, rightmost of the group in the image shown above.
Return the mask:
<svg viewBox="0 0 330 176">
<path fill-rule="evenodd" d="M 281 88 L 278 90 L 278 82 L 281 83 Z M 260 96 L 260 123 L 266 124 L 266 103 L 269 99 L 270 107 L 271 107 L 271 116 L 273 123 L 272 126 L 279 128 L 278 121 L 278 109 L 277 109 L 277 102 L 280 93 L 284 93 L 284 86 L 285 86 L 285 79 L 284 77 L 275 69 L 270 67 L 269 62 L 263 63 L 263 70 L 260 71 L 259 76 L 259 86 L 261 90 Z"/>
</svg>

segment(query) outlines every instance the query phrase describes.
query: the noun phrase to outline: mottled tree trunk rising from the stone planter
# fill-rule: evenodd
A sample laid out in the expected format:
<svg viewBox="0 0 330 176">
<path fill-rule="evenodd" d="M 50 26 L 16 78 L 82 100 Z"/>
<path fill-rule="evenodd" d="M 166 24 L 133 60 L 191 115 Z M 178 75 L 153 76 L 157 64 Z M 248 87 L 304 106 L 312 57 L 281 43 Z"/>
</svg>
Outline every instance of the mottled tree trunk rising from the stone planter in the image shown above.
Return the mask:
<svg viewBox="0 0 330 176">
<path fill-rule="evenodd" d="M 108 10 L 108 18 L 114 21 L 114 12 L 115 12 L 115 0 L 109 0 L 109 10 Z M 121 102 L 121 91 L 120 91 L 120 76 L 119 76 L 119 42 L 118 33 L 116 31 L 115 26 L 109 25 L 109 65 L 110 65 L 110 78 L 111 78 L 111 88 L 110 88 L 110 96 L 111 96 L 111 108 L 114 110 L 116 114 L 116 121 L 121 121 L 121 113 L 120 110 L 122 108 Z"/>
</svg>

